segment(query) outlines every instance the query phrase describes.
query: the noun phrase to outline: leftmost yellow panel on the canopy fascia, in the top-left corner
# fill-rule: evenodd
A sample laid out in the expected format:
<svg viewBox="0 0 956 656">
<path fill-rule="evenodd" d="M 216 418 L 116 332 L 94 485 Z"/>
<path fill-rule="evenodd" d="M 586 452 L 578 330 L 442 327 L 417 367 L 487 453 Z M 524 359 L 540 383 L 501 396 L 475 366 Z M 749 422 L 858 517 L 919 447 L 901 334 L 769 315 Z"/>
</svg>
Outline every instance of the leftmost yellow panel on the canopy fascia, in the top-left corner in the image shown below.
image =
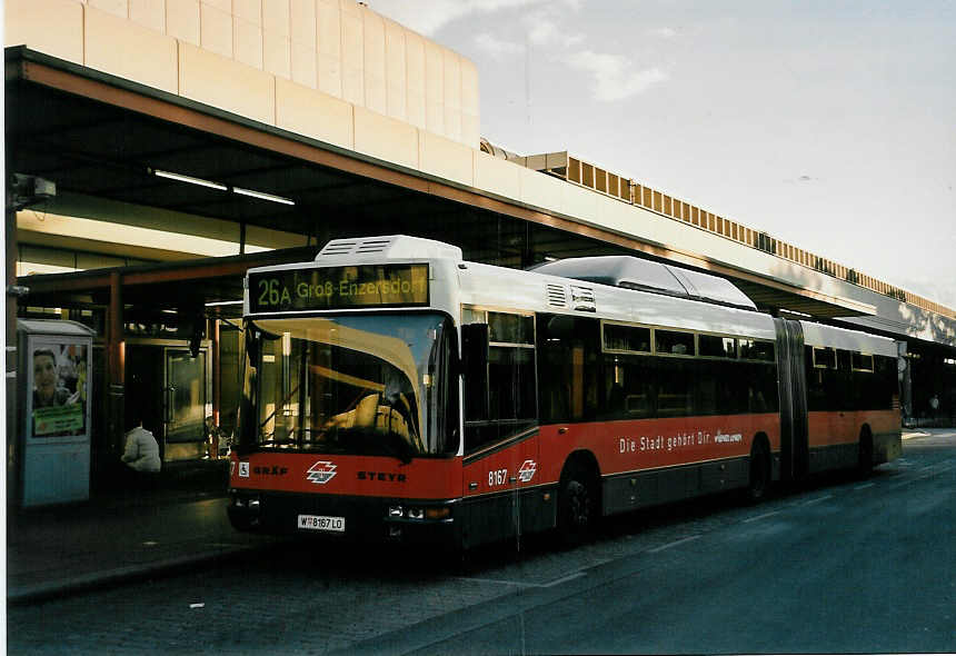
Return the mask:
<svg viewBox="0 0 956 656">
<path fill-rule="evenodd" d="M 3 44 L 83 63 L 83 6 L 74 0 L 6 0 Z"/>
</svg>

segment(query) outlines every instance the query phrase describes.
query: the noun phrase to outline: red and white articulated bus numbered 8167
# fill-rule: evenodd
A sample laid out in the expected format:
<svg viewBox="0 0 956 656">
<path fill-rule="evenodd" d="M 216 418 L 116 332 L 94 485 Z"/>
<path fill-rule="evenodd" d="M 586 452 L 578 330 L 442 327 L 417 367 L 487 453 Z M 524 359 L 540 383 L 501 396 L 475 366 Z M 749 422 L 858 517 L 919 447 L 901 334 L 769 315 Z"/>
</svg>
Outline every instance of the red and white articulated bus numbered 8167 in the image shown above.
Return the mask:
<svg viewBox="0 0 956 656">
<path fill-rule="evenodd" d="M 631 257 L 406 236 L 252 269 L 238 529 L 468 548 L 900 454 L 898 342 Z"/>
</svg>

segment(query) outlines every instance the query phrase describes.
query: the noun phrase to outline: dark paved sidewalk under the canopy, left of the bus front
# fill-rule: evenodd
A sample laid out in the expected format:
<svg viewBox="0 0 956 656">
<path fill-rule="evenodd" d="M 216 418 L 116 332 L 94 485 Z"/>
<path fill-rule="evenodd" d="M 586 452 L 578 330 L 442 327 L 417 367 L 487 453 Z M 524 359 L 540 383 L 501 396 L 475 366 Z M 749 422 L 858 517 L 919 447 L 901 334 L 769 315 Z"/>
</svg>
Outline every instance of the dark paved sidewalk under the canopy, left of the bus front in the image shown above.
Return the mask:
<svg viewBox="0 0 956 656">
<path fill-rule="evenodd" d="M 225 476 L 206 474 L 17 513 L 7 521 L 7 600 L 40 600 L 148 577 L 276 541 L 235 530 L 226 505 Z"/>
</svg>

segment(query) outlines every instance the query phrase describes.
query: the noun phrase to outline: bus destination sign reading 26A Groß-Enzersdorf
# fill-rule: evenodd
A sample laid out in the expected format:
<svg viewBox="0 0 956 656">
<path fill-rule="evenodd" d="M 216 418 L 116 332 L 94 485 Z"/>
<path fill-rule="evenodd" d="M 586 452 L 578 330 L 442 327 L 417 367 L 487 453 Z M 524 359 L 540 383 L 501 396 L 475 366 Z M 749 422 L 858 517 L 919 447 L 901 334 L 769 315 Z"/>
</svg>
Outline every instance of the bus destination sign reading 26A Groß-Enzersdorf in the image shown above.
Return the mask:
<svg viewBox="0 0 956 656">
<path fill-rule="evenodd" d="M 428 265 L 360 265 L 249 274 L 249 311 L 428 305 Z"/>
</svg>

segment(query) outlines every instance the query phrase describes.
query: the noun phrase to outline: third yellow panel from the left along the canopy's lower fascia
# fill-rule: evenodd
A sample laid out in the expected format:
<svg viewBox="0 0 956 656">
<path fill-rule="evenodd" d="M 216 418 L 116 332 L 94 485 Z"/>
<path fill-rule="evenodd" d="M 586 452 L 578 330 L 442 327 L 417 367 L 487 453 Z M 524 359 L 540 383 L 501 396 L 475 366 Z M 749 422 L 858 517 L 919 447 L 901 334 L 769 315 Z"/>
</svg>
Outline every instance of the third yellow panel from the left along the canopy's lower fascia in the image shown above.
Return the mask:
<svg viewBox="0 0 956 656">
<path fill-rule="evenodd" d="M 263 123 L 275 123 L 276 82 L 271 74 L 182 42 L 179 93 Z"/>
</svg>

